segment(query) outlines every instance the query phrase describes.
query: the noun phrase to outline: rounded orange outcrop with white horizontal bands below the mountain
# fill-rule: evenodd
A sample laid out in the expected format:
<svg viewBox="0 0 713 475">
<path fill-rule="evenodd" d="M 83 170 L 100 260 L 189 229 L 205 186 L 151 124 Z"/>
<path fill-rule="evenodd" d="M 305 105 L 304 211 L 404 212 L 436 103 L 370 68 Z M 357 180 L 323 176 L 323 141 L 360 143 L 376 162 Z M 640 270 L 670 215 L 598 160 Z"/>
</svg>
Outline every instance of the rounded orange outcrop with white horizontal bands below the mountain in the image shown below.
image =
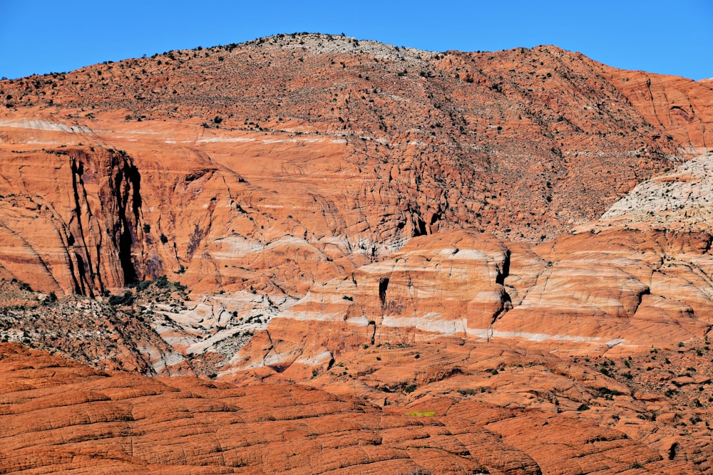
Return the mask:
<svg viewBox="0 0 713 475">
<path fill-rule="evenodd" d="M 362 345 L 444 335 L 619 354 L 702 338 L 713 323 L 710 243 L 709 234 L 652 230 L 535 247 L 463 231 L 414 238 L 314 286 L 225 371 L 304 375 Z"/>
</svg>

